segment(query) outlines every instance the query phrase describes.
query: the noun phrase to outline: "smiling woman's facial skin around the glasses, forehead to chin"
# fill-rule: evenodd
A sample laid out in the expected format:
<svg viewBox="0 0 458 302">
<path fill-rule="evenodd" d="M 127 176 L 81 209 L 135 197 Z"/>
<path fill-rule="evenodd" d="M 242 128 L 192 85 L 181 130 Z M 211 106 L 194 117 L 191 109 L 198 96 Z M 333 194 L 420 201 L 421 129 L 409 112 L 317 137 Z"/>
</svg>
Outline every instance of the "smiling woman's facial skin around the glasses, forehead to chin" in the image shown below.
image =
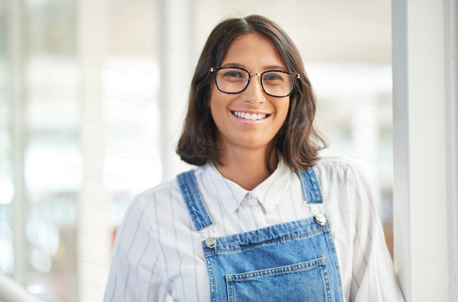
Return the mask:
<svg viewBox="0 0 458 302">
<path fill-rule="evenodd" d="M 272 42 L 258 33 L 248 33 L 232 40 L 220 66 L 234 65 L 259 74 L 266 70 L 286 70 Z M 262 90 L 260 76 L 252 75 L 248 87 L 240 93 L 220 92 L 214 81 L 211 86 L 210 109 L 218 142 L 248 149 L 260 148 L 266 146 L 284 124 L 289 96 L 267 95 Z M 250 113 L 250 116 L 260 113 L 266 117 L 251 120 L 246 116 L 235 116 L 234 112 Z"/>
</svg>

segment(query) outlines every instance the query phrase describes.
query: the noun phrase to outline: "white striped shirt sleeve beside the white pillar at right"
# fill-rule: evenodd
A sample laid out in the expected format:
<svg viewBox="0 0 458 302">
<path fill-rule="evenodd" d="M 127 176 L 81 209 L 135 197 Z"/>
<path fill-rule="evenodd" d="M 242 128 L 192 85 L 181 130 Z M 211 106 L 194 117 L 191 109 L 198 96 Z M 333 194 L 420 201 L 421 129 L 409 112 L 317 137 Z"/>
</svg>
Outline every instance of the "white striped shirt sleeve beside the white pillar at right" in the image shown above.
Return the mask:
<svg viewBox="0 0 458 302">
<path fill-rule="evenodd" d="M 354 200 L 359 213 L 364 214 L 354 216 L 356 232 L 361 236 L 353 239 L 349 300 L 404 302 L 380 218 L 392 213 L 378 210 L 372 187 L 364 181 L 368 178 L 358 164 L 349 165 L 348 173 L 353 174 L 349 199 Z"/>
</svg>

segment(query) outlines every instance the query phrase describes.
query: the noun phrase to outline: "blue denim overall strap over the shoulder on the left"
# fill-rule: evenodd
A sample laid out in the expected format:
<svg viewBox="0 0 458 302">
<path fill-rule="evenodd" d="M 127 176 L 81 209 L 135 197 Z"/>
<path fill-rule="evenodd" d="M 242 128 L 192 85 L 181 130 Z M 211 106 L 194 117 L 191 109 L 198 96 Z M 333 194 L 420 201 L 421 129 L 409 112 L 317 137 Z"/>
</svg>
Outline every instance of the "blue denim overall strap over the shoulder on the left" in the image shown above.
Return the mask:
<svg viewBox="0 0 458 302">
<path fill-rule="evenodd" d="M 194 222 L 196 231 L 211 225 L 212 219 L 202 202 L 201 194 L 197 188 L 194 170 L 178 174 L 176 180 L 180 186 L 181 194 L 191 215 L 192 222 Z"/>
</svg>

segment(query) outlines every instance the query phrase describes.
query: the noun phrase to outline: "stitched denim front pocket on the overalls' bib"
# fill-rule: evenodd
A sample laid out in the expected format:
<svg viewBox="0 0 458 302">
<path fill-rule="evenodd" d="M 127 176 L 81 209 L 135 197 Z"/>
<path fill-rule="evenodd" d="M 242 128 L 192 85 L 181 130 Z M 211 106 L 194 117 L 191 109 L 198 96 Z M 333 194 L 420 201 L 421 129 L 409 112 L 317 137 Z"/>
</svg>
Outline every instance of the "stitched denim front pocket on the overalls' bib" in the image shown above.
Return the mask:
<svg viewBox="0 0 458 302">
<path fill-rule="evenodd" d="M 324 257 L 226 275 L 226 284 L 229 302 L 333 301 Z"/>
</svg>

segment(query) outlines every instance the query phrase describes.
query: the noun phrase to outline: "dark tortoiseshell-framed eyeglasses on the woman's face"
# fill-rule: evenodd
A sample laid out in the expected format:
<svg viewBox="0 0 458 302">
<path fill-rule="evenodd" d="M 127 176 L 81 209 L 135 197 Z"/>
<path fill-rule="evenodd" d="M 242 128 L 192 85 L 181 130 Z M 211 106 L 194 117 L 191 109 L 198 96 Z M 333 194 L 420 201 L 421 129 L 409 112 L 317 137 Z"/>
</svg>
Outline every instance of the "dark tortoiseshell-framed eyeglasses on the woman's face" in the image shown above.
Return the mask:
<svg viewBox="0 0 458 302">
<path fill-rule="evenodd" d="M 262 90 L 271 97 L 288 97 L 293 91 L 294 81 L 300 79 L 300 75 L 289 71 L 266 70 L 263 73 L 251 73 L 235 66 L 212 67 L 210 72 L 215 73 L 216 86 L 224 93 L 243 92 L 252 75 L 260 76 Z"/>
</svg>

